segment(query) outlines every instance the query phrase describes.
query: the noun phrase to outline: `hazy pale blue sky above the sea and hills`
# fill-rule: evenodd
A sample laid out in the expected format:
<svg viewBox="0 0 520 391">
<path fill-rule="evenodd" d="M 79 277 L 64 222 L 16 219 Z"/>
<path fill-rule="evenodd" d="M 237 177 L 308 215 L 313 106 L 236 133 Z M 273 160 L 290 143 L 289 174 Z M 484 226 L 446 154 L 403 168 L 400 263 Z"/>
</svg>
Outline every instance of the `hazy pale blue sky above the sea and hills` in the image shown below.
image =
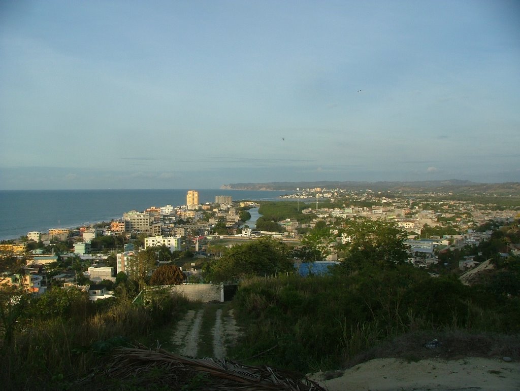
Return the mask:
<svg viewBox="0 0 520 391">
<path fill-rule="evenodd" d="M 0 0 L 0 190 L 520 181 L 520 2 Z"/>
</svg>

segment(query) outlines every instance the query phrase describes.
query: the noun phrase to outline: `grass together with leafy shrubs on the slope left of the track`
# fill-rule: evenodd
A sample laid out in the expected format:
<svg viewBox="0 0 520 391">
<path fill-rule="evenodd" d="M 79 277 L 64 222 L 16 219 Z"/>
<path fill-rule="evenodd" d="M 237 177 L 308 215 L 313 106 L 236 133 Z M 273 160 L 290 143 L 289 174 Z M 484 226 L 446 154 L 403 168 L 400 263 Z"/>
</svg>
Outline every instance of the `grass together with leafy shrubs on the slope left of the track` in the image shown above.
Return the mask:
<svg viewBox="0 0 520 391">
<path fill-rule="evenodd" d="M 4 302 L 5 303 L 5 302 Z M 57 288 L 40 299 L 2 306 L 0 377 L 5 389 L 70 389 L 116 347 L 151 346 L 183 314 L 181 296 L 155 292 L 145 303 L 90 302 L 86 292 Z"/>
</svg>

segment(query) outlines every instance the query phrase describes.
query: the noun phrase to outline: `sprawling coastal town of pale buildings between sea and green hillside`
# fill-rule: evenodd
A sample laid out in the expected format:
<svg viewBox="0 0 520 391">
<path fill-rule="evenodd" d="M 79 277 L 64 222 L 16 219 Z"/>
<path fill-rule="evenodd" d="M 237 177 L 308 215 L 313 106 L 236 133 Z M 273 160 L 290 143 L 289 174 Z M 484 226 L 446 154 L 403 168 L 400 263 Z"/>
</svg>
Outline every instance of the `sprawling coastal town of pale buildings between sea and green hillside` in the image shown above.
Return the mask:
<svg viewBox="0 0 520 391">
<path fill-rule="evenodd" d="M 23 273 L 12 268 L 3 270 L 2 284 L 25 287 L 34 294 L 42 294 L 50 286 L 81 286 L 89 292 L 91 300 L 105 299 L 112 296 L 110 288 L 117 276 L 132 273 L 136 254 L 158 246 L 166 247 L 171 253 L 189 254 L 190 258 L 179 263 L 179 268 L 186 280 L 200 282 L 202 266 L 218 258 L 222 247 L 264 236 L 298 247 L 305 235 L 320 223 L 325 224 L 330 233 L 328 238 L 322 238 L 326 250 L 322 251 L 320 261 L 330 265 L 341 261 L 341 247 L 350 240 L 344 228 L 355 219 L 395 224 L 407 234 L 408 261 L 428 268 L 446 264 L 443 254 L 476 247 L 488 240 L 492 225 L 486 230 L 477 230 L 478 227 L 490 222 L 511 223 L 519 215 L 514 206 L 432 201 L 371 190 L 315 187 L 285 194 L 281 199 L 290 200 L 303 218 L 280 219 L 275 230 L 255 227 L 255 222 L 250 221 L 248 211 L 259 207 L 257 201 L 233 201 L 223 195 L 216 196 L 214 203 L 201 204 L 198 192 L 190 190 L 185 205 L 131 210 L 121 219 L 76 229 L 28 232 L 27 236 L 0 245 L 2 258 L 23 267 Z M 509 252 L 518 255 L 520 246 L 512 243 L 502 251 L 504 256 Z M 458 251 L 457 254 L 454 266 L 461 271 L 483 261 L 478 252 L 466 255 Z M 157 265 L 160 264 L 158 260 Z"/>
</svg>

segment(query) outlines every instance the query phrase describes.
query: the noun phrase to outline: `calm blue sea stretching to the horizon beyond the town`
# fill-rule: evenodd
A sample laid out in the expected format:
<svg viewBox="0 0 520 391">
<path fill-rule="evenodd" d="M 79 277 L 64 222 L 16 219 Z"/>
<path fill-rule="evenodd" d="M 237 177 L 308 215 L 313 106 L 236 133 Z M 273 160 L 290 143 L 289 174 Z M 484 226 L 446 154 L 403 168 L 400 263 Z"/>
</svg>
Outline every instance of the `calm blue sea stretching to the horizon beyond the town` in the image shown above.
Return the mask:
<svg viewBox="0 0 520 391">
<path fill-rule="evenodd" d="M 236 200 L 280 200 L 284 192 L 193 189 L 199 203 L 214 203 L 215 196 Z M 2 190 L 0 240 L 15 239 L 31 231 L 74 228 L 121 219 L 129 210 L 186 204 L 187 189 L 173 190 Z"/>
</svg>

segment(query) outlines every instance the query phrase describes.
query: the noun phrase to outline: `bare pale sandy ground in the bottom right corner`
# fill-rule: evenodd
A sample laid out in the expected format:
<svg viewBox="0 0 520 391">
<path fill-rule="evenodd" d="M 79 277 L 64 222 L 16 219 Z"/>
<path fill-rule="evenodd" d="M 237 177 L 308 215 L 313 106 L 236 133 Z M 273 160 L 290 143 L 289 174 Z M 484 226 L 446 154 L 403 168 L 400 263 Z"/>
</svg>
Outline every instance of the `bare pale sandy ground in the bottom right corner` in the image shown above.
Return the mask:
<svg viewBox="0 0 520 391">
<path fill-rule="evenodd" d="M 323 372 L 309 377 L 329 391 L 512 391 L 520 390 L 520 363 L 475 357 L 449 361 L 427 359 L 418 362 L 381 358 L 349 368 L 335 379 L 324 380 L 327 373 Z"/>
</svg>

